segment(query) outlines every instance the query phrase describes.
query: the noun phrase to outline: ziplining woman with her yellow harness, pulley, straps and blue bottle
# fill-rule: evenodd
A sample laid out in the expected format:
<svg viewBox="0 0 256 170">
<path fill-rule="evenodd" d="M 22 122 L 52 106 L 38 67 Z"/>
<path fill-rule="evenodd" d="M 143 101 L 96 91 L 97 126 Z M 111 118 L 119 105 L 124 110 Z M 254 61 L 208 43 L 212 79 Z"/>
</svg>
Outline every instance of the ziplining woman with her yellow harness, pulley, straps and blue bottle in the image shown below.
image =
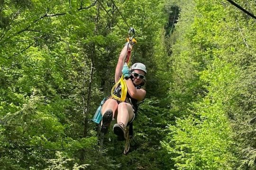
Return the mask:
<svg viewBox="0 0 256 170">
<path fill-rule="evenodd" d="M 132 122 L 135 119 L 138 105 L 146 96 L 146 91 L 142 88 L 146 83 L 146 66 L 142 63 L 135 63 L 129 68 L 131 51 L 137 41 L 134 39 L 133 28 L 130 28 L 128 33 L 129 38 L 119 55 L 116 66 L 116 84 L 112 88 L 111 96 L 106 101 L 105 99 L 101 101 L 101 105 L 92 119 L 101 127 L 100 148 L 102 148 L 104 135 L 108 132 L 111 121 L 117 119 L 113 131 L 119 141 L 126 140 L 125 154 L 129 150 L 129 138 L 133 136 Z M 130 36 L 130 33 L 133 35 Z"/>
</svg>

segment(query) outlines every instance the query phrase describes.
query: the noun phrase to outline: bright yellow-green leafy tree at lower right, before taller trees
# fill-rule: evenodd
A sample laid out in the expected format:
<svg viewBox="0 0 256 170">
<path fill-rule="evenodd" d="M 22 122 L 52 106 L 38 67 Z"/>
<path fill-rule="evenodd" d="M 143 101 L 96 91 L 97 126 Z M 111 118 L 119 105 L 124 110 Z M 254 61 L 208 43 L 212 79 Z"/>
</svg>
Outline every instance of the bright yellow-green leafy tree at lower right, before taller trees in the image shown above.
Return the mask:
<svg viewBox="0 0 256 170">
<path fill-rule="evenodd" d="M 214 60 L 212 68 L 203 71 L 201 81 L 208 84 L 208 95 L 200 102 L 193 102 L 190 116 L 177 119 L 171 126 L 169 143 L 164 146 L 177 156 L 178 169 L 232 169 L 236 160 L 232 148 L 232 130 L 225 113 L 234 103 L 239 91 L 232 88 L 239 78 L 239 70 L 229 63 Z M 173 147 L 171 147 L 173 146 Z"/>
</svg>

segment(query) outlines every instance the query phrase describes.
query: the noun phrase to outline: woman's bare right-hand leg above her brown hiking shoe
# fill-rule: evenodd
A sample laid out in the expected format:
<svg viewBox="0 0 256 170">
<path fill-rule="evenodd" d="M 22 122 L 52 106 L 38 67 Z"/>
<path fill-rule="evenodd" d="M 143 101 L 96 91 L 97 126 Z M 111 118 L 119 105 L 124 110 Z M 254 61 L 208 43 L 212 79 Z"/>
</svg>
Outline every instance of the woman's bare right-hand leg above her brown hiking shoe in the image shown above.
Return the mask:
<svg viewBox="0 0 256 170">
<path fill-rule="evenodd" d="M 132 106 L 129 103 L 119 103 L 117 122 L 122 122 L 126 127 L 128 122 L 133 118 L 133 114 Z"/>
</svg>

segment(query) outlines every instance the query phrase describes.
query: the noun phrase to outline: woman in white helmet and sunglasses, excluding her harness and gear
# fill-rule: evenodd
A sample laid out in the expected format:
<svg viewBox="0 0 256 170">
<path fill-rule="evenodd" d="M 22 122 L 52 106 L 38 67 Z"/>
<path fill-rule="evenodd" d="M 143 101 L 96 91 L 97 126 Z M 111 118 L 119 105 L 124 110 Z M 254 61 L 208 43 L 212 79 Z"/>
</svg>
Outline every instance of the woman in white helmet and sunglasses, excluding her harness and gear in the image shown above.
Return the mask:
<svg viewBox="0 0 256 170">
<path fill-rule="evenodd" d="M 115 82 L 119 81 L 120 76 L 124 75 L 127 85 L 127 98 L 125 102 L 119 102 L 115 99 L 108 99 L 102 106 L 101 113 L 102 123 L 101 132 L 106 134 L 110 127 L 111 120 L 117 117 L 117 124 L 114 125 L 113 131 L 118 136 L 119 140 L 125 140 L 125 128 L 128 123 L 132 122 L 135 118 L 137 111 L 137 102 L 142 101 L 146 95 L 146 91 L 141 88 L 145 84 L 146 67 L 142 63 L 135 63 L 132 65 L 131 70 L 125 63 L 126 55 L 128 52 L 129 43 L 119 55 L 119 60 L 115 72 Z M 120 93 L 120 87 L 115 91 L 116 94 Z M 114 114 L 113 114 L 114 113 Z"/>
</svg>

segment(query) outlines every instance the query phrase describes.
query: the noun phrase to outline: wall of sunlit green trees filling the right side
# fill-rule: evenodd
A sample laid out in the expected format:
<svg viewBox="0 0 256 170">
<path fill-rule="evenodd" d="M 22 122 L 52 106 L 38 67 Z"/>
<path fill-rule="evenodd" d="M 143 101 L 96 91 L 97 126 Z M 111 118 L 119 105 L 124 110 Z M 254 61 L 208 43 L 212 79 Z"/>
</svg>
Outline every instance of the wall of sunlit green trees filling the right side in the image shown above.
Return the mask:
<svg viewBox="0 0 256 170">
<path fill-rule="evenodd" d="M 253 1 L 236 2 L 256 11 Z M 167 39 L 174 41 L 169 98 L 177 118 L 162 144 L 180 170 L 253 170 L 255 23 L 228 2 L 173 5 L 181 9 Z"/>
</svg>

